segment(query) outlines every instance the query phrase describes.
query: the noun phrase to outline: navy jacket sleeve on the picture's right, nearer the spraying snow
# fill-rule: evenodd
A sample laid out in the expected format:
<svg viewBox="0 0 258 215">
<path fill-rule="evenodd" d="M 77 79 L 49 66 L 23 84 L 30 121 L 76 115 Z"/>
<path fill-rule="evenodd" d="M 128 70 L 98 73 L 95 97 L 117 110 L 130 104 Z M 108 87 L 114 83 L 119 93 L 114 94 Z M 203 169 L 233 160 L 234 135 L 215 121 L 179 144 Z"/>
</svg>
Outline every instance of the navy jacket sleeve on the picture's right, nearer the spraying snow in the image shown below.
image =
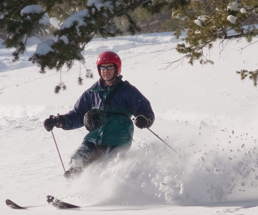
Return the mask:
<svg viewBox="0 0 258 215">
<path fill-rule="evenodd" d="M 132 86 L 132 85 L 131 85 Z M 149 120 L 149 126 L 152 126 L 155 115 L 151 108 L 150 102 L 142 93 L 134 86 L 132 86 L 132 92 L 129 97 L 130 110 L 134 116 L 143 115 Z"/>
</svg>

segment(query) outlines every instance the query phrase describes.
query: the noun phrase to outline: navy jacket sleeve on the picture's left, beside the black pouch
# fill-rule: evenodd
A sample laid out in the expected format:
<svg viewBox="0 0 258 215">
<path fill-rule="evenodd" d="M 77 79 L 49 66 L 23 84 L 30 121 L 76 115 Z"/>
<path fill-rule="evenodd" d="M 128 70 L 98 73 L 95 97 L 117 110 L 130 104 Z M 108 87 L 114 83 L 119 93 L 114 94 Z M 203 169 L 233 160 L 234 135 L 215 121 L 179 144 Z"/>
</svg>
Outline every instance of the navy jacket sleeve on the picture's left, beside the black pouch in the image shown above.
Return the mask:
<svg viewBox="0 0 258 215">
<path fill-rule="evenodd" d="M 64 114 L 65 123 L 62 129 L 73 130 L 84 126 L 84 115 L 91 109 L 91 99 L 89 90 L 86 90 L 81 97 L 76 101 L 73 110 Z"/>
</svg>

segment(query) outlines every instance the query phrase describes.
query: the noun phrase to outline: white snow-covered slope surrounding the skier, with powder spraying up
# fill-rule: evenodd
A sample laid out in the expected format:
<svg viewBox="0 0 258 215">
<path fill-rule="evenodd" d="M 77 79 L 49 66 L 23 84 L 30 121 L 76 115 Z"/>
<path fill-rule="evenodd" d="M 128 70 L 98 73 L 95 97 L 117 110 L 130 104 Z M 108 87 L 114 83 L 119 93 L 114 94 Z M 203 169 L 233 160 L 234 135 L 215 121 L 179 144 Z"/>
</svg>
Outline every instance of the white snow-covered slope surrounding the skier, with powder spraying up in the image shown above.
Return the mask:
<svg viewBox="0 0 258 215">
<path fill-rule="evenodd" d="M 65 72 L 67 90 L 54 94 L 60 73 L 38 73 L 28 62 L 36 49 L 18 62 L 13 49 L 0 49 L 0 208 L 3 214 L 62 214 L 46 206 L 55 196 L 87 206 L 85 214 L 257 214 L 257 88 L 241 81 L 235 71 L 254 70 L 255 46 L 232 40 L 220 54 L 205 53 L 214 65 L 194 66 L 181 58 L 173 32 L 96 38 L 84 50 L 93 79 L 77 85 L 79 63 Z M 99 76 L 97 56 L 107 50 L 122 59 L 122 75 L 150 101 L 156 120 L 151 130 L 135 128 L 130 151 L 119 154 L 106 167 L 89 166 L 82 176 L 67 181 L 51 132 L 43 122 L 49 115 L 65 114 Z M 175 67 L 175 68 L 174 68 Z M 174 68 L 174 69 L 173 69 Z M 87 134 L 85 128 L 53 133 L 67 169 L 69 155 Z M 11 199 L 30 210 L 8 208 Z M 175 206 L 176 205 L 176 206 Z M 181 207 L 187 206 L 187 207 Z M 208 207 L 207 207 L 208 206 Z M 74 214 L 75 211 L 66 211 Z"/>
</svg>

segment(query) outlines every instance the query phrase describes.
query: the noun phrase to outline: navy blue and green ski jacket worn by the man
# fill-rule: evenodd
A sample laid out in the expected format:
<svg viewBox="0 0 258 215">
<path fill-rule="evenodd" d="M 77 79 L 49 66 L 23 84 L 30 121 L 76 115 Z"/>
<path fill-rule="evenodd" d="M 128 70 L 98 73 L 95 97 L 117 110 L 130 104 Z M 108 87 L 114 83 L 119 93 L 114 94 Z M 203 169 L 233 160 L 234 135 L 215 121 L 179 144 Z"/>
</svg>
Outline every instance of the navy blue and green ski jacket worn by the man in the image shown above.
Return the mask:
<svg viewBox="0 0 258 215">
<path fill-rule="evenodd" d="M 132 115 L 144 115 L 150 122 L 150 127 L 154 120 L 155 116 L 153 113 L 153 110 L 150 106 L 150 102 L 140 93 L 140 91 L 131 85 L 128 81 L 122 81 L 122 76 L 117 77 L 116 85 L 119 83 L 119 90 L 114 94 L 112 97 L 110 104 L 105 106 L 103 110 L 102 121 L 104 124 L 114 124 L 114 122 L 120 122 L 122 126 L 126 125 L 126 121 L 124 120 L 130 120 Z M 114 86 L 107 86 L 105 85 L 104 81 L 97 81 L 94 83 L 89 89 L 87 89 L 81 97 L 77 100 L 77 102 L 74 105 L 73 110 L 65 114 L 65 123 L 62 127 L 64 130 L 72 130 L 76 128 L 80 128 L 84 126 L 83 124 L 83 118 L 84 115 L 92 109 L 100 109 L 102 106 L 103 101 L 107 97 L 107 95 L 114 89 Z M 112 117 L 114 116 L 114 117 Z M 118 116 L 119 119 L 118 119 Z M 130 120 L 130 123 L 132 120 Z M 130 123 L 126 126 L 128 136 L 130 137 L 130 141 L 132 139 L 133 134 L 133 125 L 130 125 Z M 118 127 L 121 125 L 117 125 Z M 132 128 L 131 128 L 132 127 Z M 111 140 L 104 141 L 102 138 L 101 132 L 103 132 L 103 129 L 105 130 L 107 127 L 103 127 L 102 129 L 99 129 L 97 131 L 90 132 L 92 134 L 89 134 L 91 138 L 86 138 L 85 141 L 89 141 L 89 139 L 92 138 L 92 135 L 95 133 L 98 136 L 96 137 L 97 144 L 107 144 L 107 145 L 121 145 L 121 144 L 112 144 L 110 143 Z M 106 129 L 108 130 L 108 129 Z M 114 127 L 110 127 L 110 130 L 116 130 Z M 109 132 L 110 132 L 109 130 Z M 117 131 L 116 136 L 120 134 L 120 131 Z M 101 133 L 101 134 L 100 134 Z M 113 133 L 113 132 L 112 132 Z M 100 136 L 101 135 L 101 136 Z M 112 134 L 114 136 L 114 134 Z M 121 140 L 116 140 L 120 141 Z M 130 142 L 129 141 L 129 142 Z M 94 142 L 94 141 L 93 141 Z M 123 143 L 122 143 L 123 144 Z"/>
</svg>

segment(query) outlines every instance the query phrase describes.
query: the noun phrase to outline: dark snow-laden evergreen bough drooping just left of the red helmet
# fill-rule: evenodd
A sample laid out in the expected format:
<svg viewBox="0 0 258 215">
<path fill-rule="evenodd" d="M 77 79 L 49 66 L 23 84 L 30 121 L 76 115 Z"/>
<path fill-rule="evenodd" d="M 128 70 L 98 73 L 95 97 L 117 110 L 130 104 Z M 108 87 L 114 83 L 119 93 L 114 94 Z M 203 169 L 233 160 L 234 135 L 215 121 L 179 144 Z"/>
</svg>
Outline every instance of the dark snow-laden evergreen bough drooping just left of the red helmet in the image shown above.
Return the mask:
<svg viewBox="0 0 258 215">
<path fill-rule="evenodd" d="M 42 73 L 45 72 L 46 68 L 59 70 L 64 65 L 71 68 L 75 60 L 84 62 L 80 52 L 94 35 L 97 34 L 103 38 L 120 35 L 122 30 L 116 26 L 114 18 L 122 15 L 128 17 L 127 11 L 129 8 L 133 10 L 146 2 L 146 0 L 90 0 L 86 9 L 69 16 L 64 20 L 60 29 L 54 33 L 57 40 L 54 44 L 51 44 L 51 49 L 48 47 L 51 53 L 38 54 L 39 52 L 36 52 L 29 60 L 39 64 Z M 132 34 L 139 30 L 130 16 L 128 17 L 128 23 L 130 25 L 128 29 Z M 49 58 L 50 55 L 51 58 Z"/>
</svg>

